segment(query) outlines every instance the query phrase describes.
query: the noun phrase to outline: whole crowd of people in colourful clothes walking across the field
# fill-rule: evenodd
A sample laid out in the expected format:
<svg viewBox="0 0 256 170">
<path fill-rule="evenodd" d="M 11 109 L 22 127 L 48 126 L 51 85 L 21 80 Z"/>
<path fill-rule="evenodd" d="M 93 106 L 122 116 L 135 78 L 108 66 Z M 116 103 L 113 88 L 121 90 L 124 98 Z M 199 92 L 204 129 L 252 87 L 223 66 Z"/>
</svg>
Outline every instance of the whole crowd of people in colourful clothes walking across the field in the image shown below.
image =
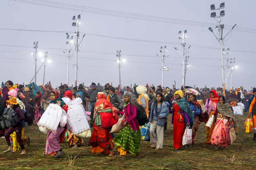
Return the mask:
<svg viewBox="0 0 256 170">
<path fill-rule="evenodd" d="M 195 93 L 188 93 L 192 89 Z M 8 149 L 3 153 L 17 152 L 26 154 L 25 146 L 29 146 L 30 138 L 25 136 L 25 113 L 29 108 L 34 108 L 34 118 L 28 122 L 38 123 L 50 103 L 61 106 L 66 112 L 68 106 L 62 100 L 63 97 L 81 98 L 84 109 L 90 113 L 90 127 L 92 130 L 88 146 L 91 146 L 92 153 L 104 153 L 109 156 L 115 155 L 113 149 L 119 152 L 117 157 L 125 158 L 126 152 L 140 157 L 141 149 L 141 127 L 138 123 L 138 108 L 144 108 L 147 115 L 147 124 L 150 125 L 150 145 L 159 150 L 163 148 L 164 132 L 167 130 L 168 115 L 172 114 L 173 124 L 173 146 L 175 152 L 179 152 L 189 145 L 183 145 L 183 135 L 185 129 L 192 129 L 192 144 L 195 145 L 196 132 L 200 123 L 207 123 L 210 118 L 213 122 L 206 129 L 206 144 L 215 146 L 215 149 L 227 148 L 227 133 L 230 128 L 234 128 L 236 134 L 237 124 L 232 107 L 237 103 L 244 103 L 244 112 L 249 110 L 248 117 L 253 115 L 253 140 L 256 140 L 256 88 L 252 92 L 243 90 L 243 87 L 236 90 L 225 91 L 222 88 L 192 88 L 189 86 L 181 89 L 172 89 L 154 85 L 146 86 L 134 85 L 124 88 L 113 87 L 109 83 L 104 87 L 99 83 L 92 83 L 90 87 L 79 84 L 77 87 L 69 87 L 63 84 L 58 88 L 52 88 L 51 84 L 36 86 L 35 84 L 17 85 L 12 81 L 2 83 L 0 88 L 0 115 L 5 108 L 13 108 L 17 114 L 17 123 L 5 130 L 0 131 L 0 135 L 6 139 Z M 122 99 L 123 98 L 123 99 Z M 122 117 L 123 128 L 118 134 L 110 133 L 114 122 Z M 28 119 L 28 118 L 27 118 Z M 88 118 L 89 120 L 89 118 Z M 106 121 L 109 120 L 109 121 Z M 66 142 L 72 148 L 77 148 L 84 144 L 83 138 L 72 133 L 68 128 L 59 124 L 57 132 L 51 131 L 47 134 L 45 144 L 45 154 L 54 155 L 60 158 L 64 153 L 60 143 Z"/>
</svg>

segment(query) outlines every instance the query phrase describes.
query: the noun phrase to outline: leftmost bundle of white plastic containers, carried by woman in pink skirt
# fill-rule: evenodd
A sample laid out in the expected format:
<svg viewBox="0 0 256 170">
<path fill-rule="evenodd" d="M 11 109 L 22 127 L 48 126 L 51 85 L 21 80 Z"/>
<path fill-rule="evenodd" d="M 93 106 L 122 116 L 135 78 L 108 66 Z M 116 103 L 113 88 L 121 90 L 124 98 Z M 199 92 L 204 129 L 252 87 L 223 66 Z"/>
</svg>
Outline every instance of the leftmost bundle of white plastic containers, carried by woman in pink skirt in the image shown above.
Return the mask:
<svg viewBox="0 0 256 170">
<path fill-rule="evenodd" d="M 61 127 L 66 125 L 67 114 L 59 105 L 50 103 L 37 125 L 56 133 L 59 123 Z M 42 128 L 40 128 L 40 131 L 41 129 Z M 45 133 L 45 131 L 43 133 Z"/>
</svg>

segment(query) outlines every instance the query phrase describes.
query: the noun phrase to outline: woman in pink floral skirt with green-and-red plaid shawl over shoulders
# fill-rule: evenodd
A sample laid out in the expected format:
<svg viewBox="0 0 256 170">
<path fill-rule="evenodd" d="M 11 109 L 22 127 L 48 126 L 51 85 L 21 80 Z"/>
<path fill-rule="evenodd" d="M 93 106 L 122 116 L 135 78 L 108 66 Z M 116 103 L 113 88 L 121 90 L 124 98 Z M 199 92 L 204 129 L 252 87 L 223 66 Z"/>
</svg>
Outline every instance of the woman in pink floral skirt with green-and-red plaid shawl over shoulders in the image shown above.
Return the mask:
<svg viewBox="0 0 256 170">
<path fill-rule="evenodd" d="M 217 116 L 216 124 L 211 135 L 211 144 L 216 145 L 215 149 L 219 149 L 223 146 L 225 150 L 227 148 L 227 130 L 234 127 L 237 133 L 237 124 L 234 117 L 234 112 L 227 99 L 224 96 L 220 96 L 219 103 L 217 104 L 217 110 L 215 112 Z"/>
</svg>

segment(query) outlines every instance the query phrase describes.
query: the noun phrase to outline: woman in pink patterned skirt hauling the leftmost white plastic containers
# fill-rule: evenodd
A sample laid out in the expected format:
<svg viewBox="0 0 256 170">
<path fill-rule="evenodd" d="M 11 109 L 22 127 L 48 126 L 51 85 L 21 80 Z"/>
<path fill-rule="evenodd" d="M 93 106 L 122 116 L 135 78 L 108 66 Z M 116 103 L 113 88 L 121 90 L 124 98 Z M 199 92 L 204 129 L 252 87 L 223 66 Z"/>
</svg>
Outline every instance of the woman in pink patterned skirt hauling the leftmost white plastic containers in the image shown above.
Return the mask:
<svg viewBox="0 0 256 170">
<path fill-rule="evenodd" d="M 50 97 L 50 103 L 58 104 L 61 107 L 65 105 L 65 103 L 60 99 L 60 93 L 57 90 L 52 90 L 50 93 Z M 54 155 L 54 158 L 61 157 L 64 151 L 62 151 L 61 149 L 60 142 L 63 142 L 66 130 L 67 128 L 61 128 L 59 124 L 56 133 L 53 133 L 51 131 L 48 132 L 45 146 L 45 154 Z"/>
</svg>

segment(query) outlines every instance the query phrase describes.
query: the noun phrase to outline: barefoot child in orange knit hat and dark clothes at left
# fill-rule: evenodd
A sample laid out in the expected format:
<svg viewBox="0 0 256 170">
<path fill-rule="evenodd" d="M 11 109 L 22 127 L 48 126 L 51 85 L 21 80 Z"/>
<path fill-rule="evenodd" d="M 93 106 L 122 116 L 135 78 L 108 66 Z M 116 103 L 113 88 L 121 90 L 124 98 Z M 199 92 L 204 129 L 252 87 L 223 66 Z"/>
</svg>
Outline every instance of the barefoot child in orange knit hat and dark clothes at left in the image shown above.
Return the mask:
<svg viewBox="0 0 256 170">
<path fill-rule="evenodd" d="M 22 152 L 20 154 L 26 154 L 26 150 L 21 138 L 21 132 L 22 132 L 22 121 L 25 119 L 24 114 L 22 113 L 19 103 L 17 103 L 17 98 L 12 97 L 9 100 L 6 101 L 6 103 L 9 104 L 10 108 L 13 108 L 14 112 L 17 113 L 18 116 L 18 122 L 13 127 L 9 128 L 8 131 L 4 134 L 4 137 L 6 139 L 8 149 L 4 151 L 3 153 L 7 153 L 10 151 L 13 151 L 13 147 L 11 146 L 10 142 L 10 135 L 15 132 L 17 137 L 17 142 L 19 143 L 20 148 L 22 149 Z"/>
</svg>

